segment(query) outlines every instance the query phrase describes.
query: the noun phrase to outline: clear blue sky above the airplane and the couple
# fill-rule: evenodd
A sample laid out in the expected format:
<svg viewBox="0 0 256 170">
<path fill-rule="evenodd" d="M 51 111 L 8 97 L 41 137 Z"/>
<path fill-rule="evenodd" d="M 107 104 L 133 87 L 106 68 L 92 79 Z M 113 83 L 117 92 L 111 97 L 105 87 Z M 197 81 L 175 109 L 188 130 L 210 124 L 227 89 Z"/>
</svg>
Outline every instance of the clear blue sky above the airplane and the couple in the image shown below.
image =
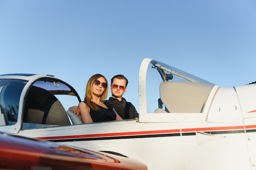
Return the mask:
<svg viewBox="0 0 256 170">
<path fill-rule="evenodd" d="M 146 57 L 221 87 L 256 81 L 256 1 L 0 0 L 0 74 L 51 74 L 81 99 L 93 74 L 124 74 L 139 110 Z"/>
</svg>

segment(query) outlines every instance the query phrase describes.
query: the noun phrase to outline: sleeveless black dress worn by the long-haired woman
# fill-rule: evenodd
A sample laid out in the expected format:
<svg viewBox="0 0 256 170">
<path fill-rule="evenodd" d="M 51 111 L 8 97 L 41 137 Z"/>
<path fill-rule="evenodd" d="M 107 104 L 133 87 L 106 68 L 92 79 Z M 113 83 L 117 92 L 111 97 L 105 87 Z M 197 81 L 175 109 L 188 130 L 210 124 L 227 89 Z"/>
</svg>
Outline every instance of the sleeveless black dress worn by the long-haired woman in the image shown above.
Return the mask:
<svg viewBox="0 0 256 170">
<path fill-rule="evenodd" d="M 110 103 L 104 102 L 104 104 L 108 107 L 108 109 L 101 107 L 98 105 L 100 110 L 92 110 L 90 108 L 90 116 L 92 117 L 93 122 L 106 122 L 116 120 L 117 113 L 113 109 L 113 105 Z"/>
</svg>

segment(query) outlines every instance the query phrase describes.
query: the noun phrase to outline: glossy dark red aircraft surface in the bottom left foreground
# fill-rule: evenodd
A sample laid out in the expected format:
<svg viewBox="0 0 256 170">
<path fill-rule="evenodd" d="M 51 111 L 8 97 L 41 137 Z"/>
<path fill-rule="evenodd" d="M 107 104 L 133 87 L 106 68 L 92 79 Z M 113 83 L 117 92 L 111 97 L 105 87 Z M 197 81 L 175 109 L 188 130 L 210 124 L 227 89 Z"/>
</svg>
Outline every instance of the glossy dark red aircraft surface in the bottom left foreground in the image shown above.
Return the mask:
<svg viewBox="0 0 256 170">
<path fill-rule="evenodd" d="M 139 161 L 0 132 L 0 169 L 4 170 L 130 170 L 147 167 Z"/>
</svg>

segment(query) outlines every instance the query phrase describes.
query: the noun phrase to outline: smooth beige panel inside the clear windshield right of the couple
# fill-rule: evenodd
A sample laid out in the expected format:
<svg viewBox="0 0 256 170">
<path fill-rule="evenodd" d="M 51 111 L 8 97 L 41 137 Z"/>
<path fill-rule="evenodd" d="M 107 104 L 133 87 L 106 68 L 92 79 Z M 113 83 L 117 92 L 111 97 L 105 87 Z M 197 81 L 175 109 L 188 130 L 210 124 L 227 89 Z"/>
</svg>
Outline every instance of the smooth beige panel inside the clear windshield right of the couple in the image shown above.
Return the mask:
<svg viewBox="0 0 256 170">
<path fill-rule="evenodd" d="M 164 81 L 160 98 L 170 113 L 202 113 L 214 85 L 200 82 Z"/>
</svg>

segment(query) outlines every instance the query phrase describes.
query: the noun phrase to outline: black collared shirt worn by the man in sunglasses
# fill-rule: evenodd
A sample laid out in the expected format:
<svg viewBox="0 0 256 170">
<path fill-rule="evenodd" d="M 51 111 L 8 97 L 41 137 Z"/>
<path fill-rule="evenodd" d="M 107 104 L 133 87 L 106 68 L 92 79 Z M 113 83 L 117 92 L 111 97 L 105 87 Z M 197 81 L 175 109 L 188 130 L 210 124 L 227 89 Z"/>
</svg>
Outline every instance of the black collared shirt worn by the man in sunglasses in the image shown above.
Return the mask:
<svg viewBox="0 0 256 170">
<path fill-rule="evenodd" d="M 135 107 L 132 105 L 131 102 L 126 102 L 125 98 L 122 98 L 119 101 L 116 98 L 110 97 L 106 102 L 109 102 L 113 105 L 115 111 L 119 114 L 119 116 L 123 119 L 135 119 L 139 118 L 139 114 L 136 111 Z"/>
</svg>

